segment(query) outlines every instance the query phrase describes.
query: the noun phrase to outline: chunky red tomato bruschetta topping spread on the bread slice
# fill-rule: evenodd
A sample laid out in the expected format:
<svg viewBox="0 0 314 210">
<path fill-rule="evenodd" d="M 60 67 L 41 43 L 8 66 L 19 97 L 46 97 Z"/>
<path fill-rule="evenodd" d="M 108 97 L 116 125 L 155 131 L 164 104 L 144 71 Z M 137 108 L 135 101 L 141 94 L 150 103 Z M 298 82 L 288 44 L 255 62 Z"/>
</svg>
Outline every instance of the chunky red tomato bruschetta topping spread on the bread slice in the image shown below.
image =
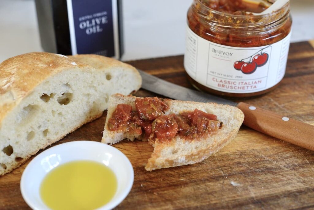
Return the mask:
<svg viewBox="0 0 314 210">
<path fill-rule="evenodd" d="M 181 136 L 201 137 L 221 128 L 217 116 L 201 110 L 165 115 L 166 103 L 157 97 L 136 98 L 136 111 L 127 104 L 118 104 L 108 120 L 108 130 L 130 132 L 144 140 L 166 140 Z"/>
</svg>

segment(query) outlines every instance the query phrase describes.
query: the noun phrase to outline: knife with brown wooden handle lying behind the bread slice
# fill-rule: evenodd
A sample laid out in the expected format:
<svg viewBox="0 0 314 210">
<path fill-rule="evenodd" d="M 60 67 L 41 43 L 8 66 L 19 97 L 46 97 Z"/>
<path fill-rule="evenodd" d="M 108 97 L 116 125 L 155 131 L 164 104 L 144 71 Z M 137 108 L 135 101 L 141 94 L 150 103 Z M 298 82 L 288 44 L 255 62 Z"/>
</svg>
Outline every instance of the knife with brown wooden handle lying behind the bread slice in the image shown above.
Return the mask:
<svg viewBox="0 0 314 210">
<path fill-rule="evenodd" d="M 236 103 L 208 93 L 192 90 L 159 79 L 139 70 L 142 88 L 160 95 L 182 101 L 215 102 L 235 106 L 244 113 L 243 124 L 283 141 L 314 151 L 314 126 L 249 105 Z"/>
</svg>

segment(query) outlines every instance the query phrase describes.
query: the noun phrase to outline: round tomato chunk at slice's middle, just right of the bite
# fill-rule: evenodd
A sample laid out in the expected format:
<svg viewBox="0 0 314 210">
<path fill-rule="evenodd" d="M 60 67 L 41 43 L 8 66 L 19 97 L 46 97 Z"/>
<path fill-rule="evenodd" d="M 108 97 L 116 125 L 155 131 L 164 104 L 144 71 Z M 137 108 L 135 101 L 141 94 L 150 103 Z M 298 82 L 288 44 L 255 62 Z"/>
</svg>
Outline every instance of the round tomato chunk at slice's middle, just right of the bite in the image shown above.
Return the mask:
<svg viewBox="0 0 314 210">
<path fill-rule="evenodd" d="M 158 139 L 173 138 L 178 132 L 178 124 L 173 118 L 175 114 L 162 115 L 154 120 L 152 131 Z"/>
</svg>

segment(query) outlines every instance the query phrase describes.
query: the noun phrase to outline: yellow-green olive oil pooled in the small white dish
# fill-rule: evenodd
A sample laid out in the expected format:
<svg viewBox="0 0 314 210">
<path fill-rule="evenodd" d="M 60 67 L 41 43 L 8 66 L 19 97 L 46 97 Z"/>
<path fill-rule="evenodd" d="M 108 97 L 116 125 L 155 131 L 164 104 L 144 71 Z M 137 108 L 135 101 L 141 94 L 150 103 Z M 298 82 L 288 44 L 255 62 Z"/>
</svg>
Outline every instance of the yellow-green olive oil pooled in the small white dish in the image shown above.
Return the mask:
<svg viewBox="0 0 314 210">
<path fill-rule="evenodd" d="M 117 190 L 113 171 L 95 161 L 73 161 L 52 169 L 40 186 L 51 209 L 95 209 L 108 203 Z"/>
</svg>

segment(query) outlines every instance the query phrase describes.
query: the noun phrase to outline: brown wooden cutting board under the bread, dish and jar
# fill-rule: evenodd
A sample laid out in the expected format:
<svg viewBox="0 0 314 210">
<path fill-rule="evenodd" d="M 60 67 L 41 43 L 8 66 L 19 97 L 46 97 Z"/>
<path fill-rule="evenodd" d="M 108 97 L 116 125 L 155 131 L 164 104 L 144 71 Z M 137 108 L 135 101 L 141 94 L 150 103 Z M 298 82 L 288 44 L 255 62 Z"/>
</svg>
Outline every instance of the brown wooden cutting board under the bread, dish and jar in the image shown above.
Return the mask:
<svg viewBox="0 0 314 210">
<path fill-rule="evenodd" d="M 314 124 L 313 46 L 314 41 L 291 44 L 281 85 L 267 95 L 244 101 Z M 192 88 L 184 73 L 183 56 L 129 63 Z M 136 96 L 156 94 L 140 90 Z M 106 111 L 101 118 L 52 146 L 68 141 L 100 141 L 105 119 Z M 314 152 L 245 126 L 229 145 L 207 160 L 153 172 L 143 167 L 153 151 L 147 142 L 122 141 L 114 146 L 130 159 L 134 168 L 133 188 L 116 209 L 314 208 Z M 29 209 L 19 189 L 28 163 L 0 177 L 0 209 Z"/>
</svg>

